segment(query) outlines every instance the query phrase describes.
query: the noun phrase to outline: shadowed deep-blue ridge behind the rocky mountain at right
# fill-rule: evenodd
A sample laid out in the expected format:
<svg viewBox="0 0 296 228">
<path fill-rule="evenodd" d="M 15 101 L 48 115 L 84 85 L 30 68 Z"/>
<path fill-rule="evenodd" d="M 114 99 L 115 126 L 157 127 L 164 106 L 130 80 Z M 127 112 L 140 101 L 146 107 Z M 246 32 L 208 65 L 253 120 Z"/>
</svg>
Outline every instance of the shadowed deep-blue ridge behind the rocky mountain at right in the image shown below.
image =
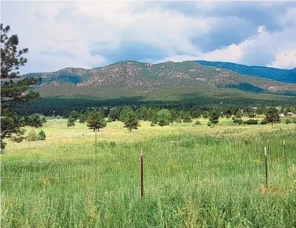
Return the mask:
<svg viewBox="0 0 296 228">
<path fill-rule="evenodd" d="M 198 63 L 203 66 L 215 66 L 223 69 L 233 70 L 242 75 L 253 75 L 257 77 L 265 77 L 274 79 L 279 82 L 290 82 L 296 83 L 296 68 L 293 70 L 284 70 L 278 68 L 269 68 L 265 66 L 245 66 L 237 63 L 227 62 L 212 62 L 212 61 L 201 61 Z"/>
</svg>

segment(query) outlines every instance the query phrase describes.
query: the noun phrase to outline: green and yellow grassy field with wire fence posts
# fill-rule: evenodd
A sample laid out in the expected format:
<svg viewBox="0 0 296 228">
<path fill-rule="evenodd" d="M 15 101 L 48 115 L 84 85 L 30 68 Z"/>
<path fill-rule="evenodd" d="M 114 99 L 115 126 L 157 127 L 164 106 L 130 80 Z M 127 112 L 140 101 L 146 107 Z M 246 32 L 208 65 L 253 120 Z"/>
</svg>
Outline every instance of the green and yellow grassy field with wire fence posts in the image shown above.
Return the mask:
<svg viewBox="0 0 296 228">
<path fill-rule="evenodd" d="M 296 125 L 200 122 L 112 122 L 96 146 L 85 124 L 49 119 L 45 141 L 1 155 L 1 227 L 296 227 Z"/>
</svg>

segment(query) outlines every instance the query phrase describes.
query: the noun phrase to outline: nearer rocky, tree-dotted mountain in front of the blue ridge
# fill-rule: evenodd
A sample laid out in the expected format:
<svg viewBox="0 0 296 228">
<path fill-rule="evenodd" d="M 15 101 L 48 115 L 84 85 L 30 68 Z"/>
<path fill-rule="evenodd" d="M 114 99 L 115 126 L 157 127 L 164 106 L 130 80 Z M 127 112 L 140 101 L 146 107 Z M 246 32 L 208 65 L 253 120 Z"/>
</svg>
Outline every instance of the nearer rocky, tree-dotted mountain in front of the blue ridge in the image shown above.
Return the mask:
<svg viewBox="0 0 296 228">
<path fill-rule="evenodd" d="M 133 100 L 135 105 L 145 102 L 182 105 L 296 103 L 296 84 L 242 75 L 196 61 L 158 64 L 119 61 L 100 68 L 64 68 L 24 76 L 43 79 L 32 89 L 40 91 L 43 98 L 36 104 L 44 105 L 46 98 L 50 98 L 51 105 L 47 105 L 50 108 L 59 103 L 57 100 L 65 104 L 69 99 L 71 102 L 80 100 L 75 105 L 87 100 L 89 105 L 94 105 L 94 100 L 96 104 L 104 100 L 120 100 L 120 104 Z"/>
</svg>

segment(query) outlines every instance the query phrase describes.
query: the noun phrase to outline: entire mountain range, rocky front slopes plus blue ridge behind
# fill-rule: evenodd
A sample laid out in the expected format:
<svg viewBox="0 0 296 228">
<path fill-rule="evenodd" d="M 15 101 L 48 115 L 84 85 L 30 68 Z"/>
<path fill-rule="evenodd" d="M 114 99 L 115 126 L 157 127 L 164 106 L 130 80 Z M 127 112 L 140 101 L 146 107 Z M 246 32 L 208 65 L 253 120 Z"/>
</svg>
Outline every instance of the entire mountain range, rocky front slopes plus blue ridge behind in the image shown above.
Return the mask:
<svg viewBox="0 0 296 228">
<path fill-rule="evenodd" d="M 237 98 L 294 102 L 296 83 L 291 82 L 296 82 L 295 71 L 206 61 L 119 61 L 99 68 L 64 68 L 23 76 L 41 77 L 34 89 L 45 98 L 180 100 L 194 96 L 221 102 Z"/>
</svg>

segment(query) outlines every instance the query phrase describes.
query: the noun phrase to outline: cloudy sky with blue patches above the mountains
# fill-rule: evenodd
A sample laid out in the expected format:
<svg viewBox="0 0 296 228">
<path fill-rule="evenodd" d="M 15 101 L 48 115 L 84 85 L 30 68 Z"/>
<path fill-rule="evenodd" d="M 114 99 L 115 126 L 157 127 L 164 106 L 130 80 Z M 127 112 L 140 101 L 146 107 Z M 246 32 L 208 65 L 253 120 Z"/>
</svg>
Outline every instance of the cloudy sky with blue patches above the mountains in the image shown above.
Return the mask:
<svg viewBox="0 0 296 228">
<path fill-rule="evenodd" d="M 296 67 L 296 1 L 1 1 L 21 73 L 122 60 Z"/>
</svg>

